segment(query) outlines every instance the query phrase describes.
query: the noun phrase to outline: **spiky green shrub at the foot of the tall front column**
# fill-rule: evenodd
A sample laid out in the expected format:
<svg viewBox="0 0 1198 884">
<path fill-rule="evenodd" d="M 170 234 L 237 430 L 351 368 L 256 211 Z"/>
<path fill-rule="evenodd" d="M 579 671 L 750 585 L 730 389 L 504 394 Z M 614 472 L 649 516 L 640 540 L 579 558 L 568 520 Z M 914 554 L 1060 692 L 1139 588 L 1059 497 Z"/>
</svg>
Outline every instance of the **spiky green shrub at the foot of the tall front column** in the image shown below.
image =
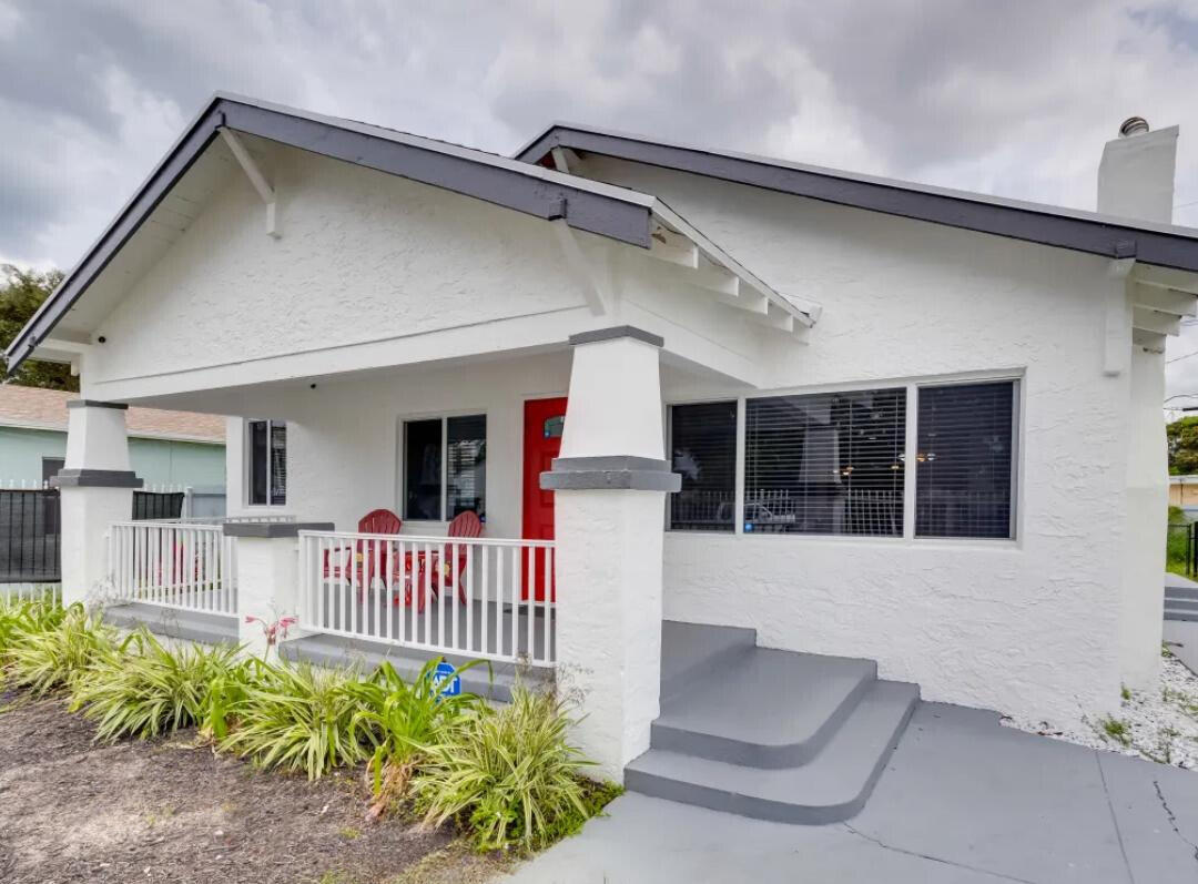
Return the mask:
<svg viewBox="0 0 1198 884">
<path fill-rule="evenodd" d="M 589 816 L 591 763 L 568 741 L 571 721 L 550 692 L 518 686 L 510 706 L 478 706 L 424 747 L 412 788 L 425 822 L 467 823 L 478 849 L 536 850 Z"/>
</svg>

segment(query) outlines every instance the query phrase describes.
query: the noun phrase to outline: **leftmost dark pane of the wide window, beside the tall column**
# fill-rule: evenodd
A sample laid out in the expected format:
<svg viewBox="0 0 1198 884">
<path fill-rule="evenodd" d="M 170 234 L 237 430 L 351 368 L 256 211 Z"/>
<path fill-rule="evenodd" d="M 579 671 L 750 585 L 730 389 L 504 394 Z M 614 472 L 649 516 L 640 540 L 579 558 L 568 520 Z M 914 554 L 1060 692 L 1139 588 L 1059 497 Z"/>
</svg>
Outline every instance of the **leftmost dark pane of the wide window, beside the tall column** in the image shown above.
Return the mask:
<svg viewBox="0 0 1198 884">
<path fill-rule="evenodd" d="M 736 527 L 737 404 L 670 408 L 670 449 L 682 490 L 670 496 L 673 531 Z"/>
</svg>

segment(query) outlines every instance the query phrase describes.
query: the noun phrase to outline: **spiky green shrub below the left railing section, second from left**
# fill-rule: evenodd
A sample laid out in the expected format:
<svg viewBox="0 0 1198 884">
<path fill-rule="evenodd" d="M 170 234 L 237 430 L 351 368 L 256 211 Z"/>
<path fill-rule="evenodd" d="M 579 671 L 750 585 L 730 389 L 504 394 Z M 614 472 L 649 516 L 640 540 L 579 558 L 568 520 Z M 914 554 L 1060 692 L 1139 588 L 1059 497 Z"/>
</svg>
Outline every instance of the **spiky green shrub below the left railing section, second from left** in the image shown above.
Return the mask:
<svg viewBox="0 0 1198 884">
<path fill-rule="evenodd" d="M 132 632 L 77 682 L 72 709 L 97 722 L 96 739 L 157 737 L 207 720 L 213 684 L 244 666 L 228 644 L 162 644 Z"/>
</svg>

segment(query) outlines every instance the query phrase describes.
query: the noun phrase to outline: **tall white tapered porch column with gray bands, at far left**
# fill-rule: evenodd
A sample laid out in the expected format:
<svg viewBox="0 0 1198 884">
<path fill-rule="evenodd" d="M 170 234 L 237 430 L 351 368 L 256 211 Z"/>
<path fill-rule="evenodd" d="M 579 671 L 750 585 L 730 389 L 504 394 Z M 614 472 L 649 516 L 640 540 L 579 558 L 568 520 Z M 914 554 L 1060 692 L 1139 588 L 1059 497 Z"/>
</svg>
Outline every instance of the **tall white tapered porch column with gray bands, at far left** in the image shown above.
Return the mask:
<svg viewBox="0 0 1198 884">
<path fill-rule="evenodd" d="M 93 597 L 109 576 L 108 528 L 133 517 L 133 489 L 125 429 L 127 405 L 75 399 L 67 402 L 67 456 L 50 480 L 60 489 L 62 604 Z"/>
</svg>

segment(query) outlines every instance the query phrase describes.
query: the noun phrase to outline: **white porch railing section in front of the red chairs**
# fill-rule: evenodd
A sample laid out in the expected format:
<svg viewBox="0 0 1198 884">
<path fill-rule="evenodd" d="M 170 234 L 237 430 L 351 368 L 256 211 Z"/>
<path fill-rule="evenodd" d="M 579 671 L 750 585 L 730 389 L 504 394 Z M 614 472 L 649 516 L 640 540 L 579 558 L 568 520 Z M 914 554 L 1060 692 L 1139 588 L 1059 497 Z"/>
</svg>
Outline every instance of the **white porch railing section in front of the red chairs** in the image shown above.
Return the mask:
<svg viewBox="0 0 1198 884">
<path fill-rule="evenodd" d="M 553 541 L 300 532 L 300 626 L 550 667 Z"/>
</svg>

